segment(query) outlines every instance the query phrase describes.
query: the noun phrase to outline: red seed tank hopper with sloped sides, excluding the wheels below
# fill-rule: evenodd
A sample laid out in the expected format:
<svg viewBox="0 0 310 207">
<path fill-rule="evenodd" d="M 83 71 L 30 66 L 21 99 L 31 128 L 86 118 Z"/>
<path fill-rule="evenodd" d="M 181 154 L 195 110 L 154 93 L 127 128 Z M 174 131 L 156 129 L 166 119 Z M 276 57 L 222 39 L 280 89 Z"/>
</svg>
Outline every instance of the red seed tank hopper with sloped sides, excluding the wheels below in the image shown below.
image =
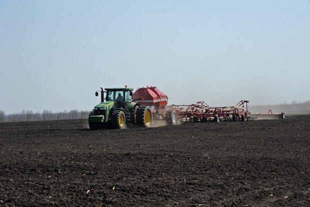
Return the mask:
<svg viewBox="0 0 310 207">
<path fill-rule="evenodd" d="M 143 98 L 143 100 L 136 100 L 137 103 L 143 105 L 149 105 L 151 110 L 159 109 L 160 106 L 166 106 L 168 104 L 168 97 L 164 93 L 158 90 L 156 87 L 148 87 L 147 85 L 142 88 L 136 89 L 132 94 L 132 99 Z"/>
</svg>

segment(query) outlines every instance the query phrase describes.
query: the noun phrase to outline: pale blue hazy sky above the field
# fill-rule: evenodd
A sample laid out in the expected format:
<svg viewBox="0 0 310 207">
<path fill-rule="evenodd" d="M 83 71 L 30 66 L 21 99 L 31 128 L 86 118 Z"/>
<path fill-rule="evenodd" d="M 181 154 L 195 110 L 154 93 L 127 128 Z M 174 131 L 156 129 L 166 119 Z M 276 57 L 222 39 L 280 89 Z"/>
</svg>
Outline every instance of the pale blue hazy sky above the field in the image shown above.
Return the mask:
<svg viewBox="0 0 310 207">
<path fill-rule="evenodd" d="M 310 1 L 0 1 L 0 110 L 91 110 L 102 88 L 168 104 L 310 100 Z"/>
</svg>

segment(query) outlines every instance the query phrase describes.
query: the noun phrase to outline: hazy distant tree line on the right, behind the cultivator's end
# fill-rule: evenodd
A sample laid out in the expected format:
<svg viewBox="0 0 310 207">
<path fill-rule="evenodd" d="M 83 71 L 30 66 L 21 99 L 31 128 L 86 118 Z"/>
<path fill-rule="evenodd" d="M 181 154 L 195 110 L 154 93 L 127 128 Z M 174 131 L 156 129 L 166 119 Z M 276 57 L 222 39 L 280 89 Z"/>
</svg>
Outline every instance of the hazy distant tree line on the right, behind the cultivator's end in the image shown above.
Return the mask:
<svg viewBox="0 0 310 207">
<path fill-rule="evenodd" d="M 273 113 L 310 110 L 310 100 L 304 102 L 292 101 L 290 104 L 285 101 L 284 103 L 274 105 L 249 106 L 249 112 L 254 113 L 268 113 L 269 109 L 271 109 Z"/>
</svg>

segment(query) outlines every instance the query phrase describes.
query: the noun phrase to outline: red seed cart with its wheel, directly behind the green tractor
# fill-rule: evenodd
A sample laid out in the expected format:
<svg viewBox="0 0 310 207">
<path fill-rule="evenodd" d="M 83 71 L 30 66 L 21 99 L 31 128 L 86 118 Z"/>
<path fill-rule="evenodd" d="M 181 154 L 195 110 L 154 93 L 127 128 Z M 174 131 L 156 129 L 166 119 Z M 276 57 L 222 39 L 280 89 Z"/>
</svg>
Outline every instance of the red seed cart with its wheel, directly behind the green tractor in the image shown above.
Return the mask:
<svg viewBox="0 0 310 207">
<path fill-rule="evenodd" d="M 166 110 L 165 108 L 168 104 L 167 95 L 159 91 L 158 88 L 152 86 L 148 87 L 145 85 L 142 88 L 136 89 L 136 91 L 132 94 L 132 99 L 140 99 L 136 100 L 136 102 L 141 105 L 145 104 L 150 106 L 153 120 L 166 120 L 169 123 L 172 118 L 172 124 L 176 123 L 176 114 L 173 113 L 175 114 L 174 118 L 173 114 L 171 114 L 171 110 Z"/>
</svg>

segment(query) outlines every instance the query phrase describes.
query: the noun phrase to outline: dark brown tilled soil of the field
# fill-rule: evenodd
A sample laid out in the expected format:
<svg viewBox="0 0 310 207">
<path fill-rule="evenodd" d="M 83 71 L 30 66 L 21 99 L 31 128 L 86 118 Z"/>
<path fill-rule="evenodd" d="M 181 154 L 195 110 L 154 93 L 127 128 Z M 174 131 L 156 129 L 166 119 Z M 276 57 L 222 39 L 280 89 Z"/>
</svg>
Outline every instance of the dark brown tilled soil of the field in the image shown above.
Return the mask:
<svg viewBox="0 0 310 207">
<path fill-rule="evenodd" d="M 310 115 L 89 130 L 0 123 L 3 206 L 310 206 Z"/>
</svg>

